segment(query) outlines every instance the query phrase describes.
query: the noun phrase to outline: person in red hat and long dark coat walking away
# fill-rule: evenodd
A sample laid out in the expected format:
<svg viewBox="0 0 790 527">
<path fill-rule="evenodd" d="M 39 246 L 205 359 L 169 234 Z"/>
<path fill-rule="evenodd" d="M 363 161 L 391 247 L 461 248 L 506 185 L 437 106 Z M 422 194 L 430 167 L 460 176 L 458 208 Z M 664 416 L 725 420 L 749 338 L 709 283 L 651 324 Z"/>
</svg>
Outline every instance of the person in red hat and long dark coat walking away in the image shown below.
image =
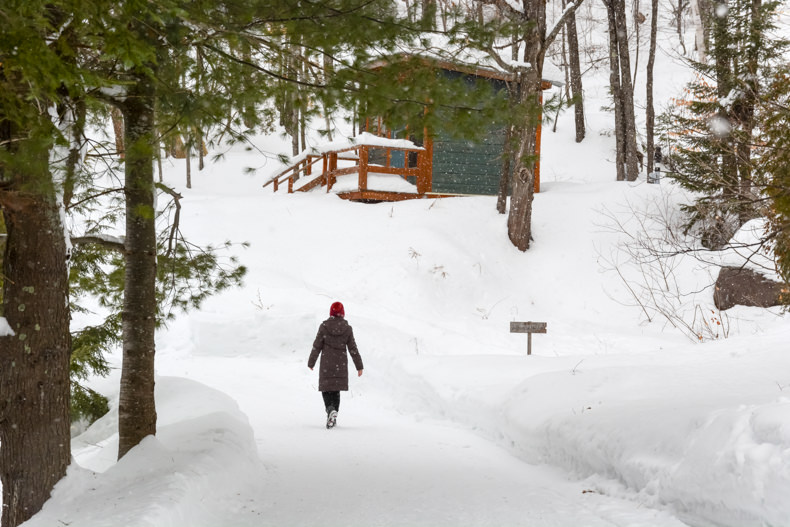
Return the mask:
<svg viewBox="0 0 790 527">
<path fill-rule="evenodd" d="M 333 303 L 329 308 L 329 318 L 321 322 L 307 366 L 312 370 L 321 355 L 318 370 L 318 391 L 324 398 L 326 407 L 326 427 L 333 428 L 337 423 L 340 410 L 340 392 L 348 391 L 348 355 L 351 354 L 357 375 L 362 376 L 362 357 L 354 341 L 354 330 L 346 319 L 343 304 Z"/>
</svg>

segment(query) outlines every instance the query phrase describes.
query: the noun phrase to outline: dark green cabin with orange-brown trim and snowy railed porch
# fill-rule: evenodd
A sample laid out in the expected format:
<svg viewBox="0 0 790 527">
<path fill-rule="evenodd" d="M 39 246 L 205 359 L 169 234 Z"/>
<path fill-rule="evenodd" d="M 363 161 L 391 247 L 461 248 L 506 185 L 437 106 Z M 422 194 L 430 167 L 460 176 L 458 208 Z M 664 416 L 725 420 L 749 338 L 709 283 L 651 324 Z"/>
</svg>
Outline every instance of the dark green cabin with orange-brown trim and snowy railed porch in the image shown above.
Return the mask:
<svg viewBox="0 0 790 527">
<path fill-rule="evenodd" d="M 493 69 L 450 62 L 433 62 L 443 74 L 483 79 L 495 91 L 505 89 L 508 74 Z M 543 81 L 543 89 L 551 81 Z M 452 123 L 447 123 L 448 127 Z M 381 118 L 368 118 L 357 138 L 322 145 L 293 159 L 264 186 L 274 190 L 287 184 L 288 192 L 323 186 L 344 199 L 400 201 L 459 195 L 495 195 L 503 171 L 505 128 L 493 126 L 479 141 L 452 138 L 444 130 L 423 134 L 422 144 L 393 139 L 396 135 Z M 536 153 L 540 154 L 538 126 Z M 321 160 L 321 171 L 315 165 Z M 540 162 L 535 165 L 535 192 L 540 192 Z"/>
</svg>

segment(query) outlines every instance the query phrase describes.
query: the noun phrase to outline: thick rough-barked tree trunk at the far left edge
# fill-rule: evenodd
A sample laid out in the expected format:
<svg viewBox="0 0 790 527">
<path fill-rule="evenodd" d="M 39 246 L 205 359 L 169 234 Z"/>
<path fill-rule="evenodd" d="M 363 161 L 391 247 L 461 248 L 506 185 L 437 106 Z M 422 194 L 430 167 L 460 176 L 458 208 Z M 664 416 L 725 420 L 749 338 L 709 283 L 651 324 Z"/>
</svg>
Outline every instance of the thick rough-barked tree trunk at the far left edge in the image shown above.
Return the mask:
<svg viewBox="0 0 790 527">
<path fill-rule="evenodd" d="M 14 71 L 0 77 L 17 101 L 0 105 L 8 155 L 0 162 L 0 298 L 13 331 L 0 334 L 0 524 L 16 527 L 41 510 L 71 459 L 71 336 L 65 229 L 49 167 L 51 108 L 44 98 L 32 102 L 36 87 Z"/>
</svg>

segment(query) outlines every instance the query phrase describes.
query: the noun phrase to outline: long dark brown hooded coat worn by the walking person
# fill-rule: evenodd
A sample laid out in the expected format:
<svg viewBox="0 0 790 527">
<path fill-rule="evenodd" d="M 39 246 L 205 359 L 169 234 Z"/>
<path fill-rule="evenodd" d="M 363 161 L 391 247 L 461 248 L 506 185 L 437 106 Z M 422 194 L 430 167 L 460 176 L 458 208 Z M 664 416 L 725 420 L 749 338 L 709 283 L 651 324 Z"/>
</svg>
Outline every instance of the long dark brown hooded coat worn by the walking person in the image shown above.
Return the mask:
<svg viewBox="0 0 790 527">
<path fill-rule="evenodd" d="M 348 355 L 354 361 L 357 370 L 362 369 L 362 357 L 354 341 L 354 331 L 342 317 L 329 317 L 321 322 L 318 335 L 313 342 L 313 350 L 307 365 L 315 366 L 321 355 L 321 366 L 318 373 L 318 391 L 337 392 L 348 390 Z"/>
</svg>

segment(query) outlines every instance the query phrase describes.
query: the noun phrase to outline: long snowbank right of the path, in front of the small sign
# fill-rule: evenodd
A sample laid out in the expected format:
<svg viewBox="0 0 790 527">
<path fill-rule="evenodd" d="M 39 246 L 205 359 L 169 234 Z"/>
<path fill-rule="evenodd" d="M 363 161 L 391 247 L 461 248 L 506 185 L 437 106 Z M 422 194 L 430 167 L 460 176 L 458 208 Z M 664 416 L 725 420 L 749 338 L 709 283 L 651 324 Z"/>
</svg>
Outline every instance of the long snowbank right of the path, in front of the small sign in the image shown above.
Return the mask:
<svg viewBox="0 0 790 527">
<path fill-rule="evenodd" d="M 575 364 L 413 358 L 401 361 L 413 380 L 399 389 L 416 394 L 411 411 L 476 428 L 601 494 L 671 510 L 693 525 L 787 525 L 788 340 L 790 330 L 761 344 Z"/>
</svg>

